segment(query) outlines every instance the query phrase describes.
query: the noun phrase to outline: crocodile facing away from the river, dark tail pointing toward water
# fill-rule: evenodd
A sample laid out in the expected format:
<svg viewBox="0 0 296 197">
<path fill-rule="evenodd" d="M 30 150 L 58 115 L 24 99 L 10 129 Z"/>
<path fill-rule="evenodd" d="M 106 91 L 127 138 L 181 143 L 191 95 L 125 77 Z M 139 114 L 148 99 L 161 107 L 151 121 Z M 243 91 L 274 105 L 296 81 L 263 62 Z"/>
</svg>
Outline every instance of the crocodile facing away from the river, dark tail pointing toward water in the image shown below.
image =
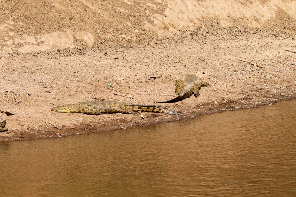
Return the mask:
<svg viewBox="0 0 296 197">
<path fill-rule="evenodd" d="M 197 97 L 201 86 L 210 86 L 210 84 L 201 81 L 195 74 L 185 75 L 176 82 L 175 92 L 177 93 L 177 97 L 168 101 L 160 101 L 158 103 L 177 102 L 190 97 L 192 94 Z"/>
</svg>

